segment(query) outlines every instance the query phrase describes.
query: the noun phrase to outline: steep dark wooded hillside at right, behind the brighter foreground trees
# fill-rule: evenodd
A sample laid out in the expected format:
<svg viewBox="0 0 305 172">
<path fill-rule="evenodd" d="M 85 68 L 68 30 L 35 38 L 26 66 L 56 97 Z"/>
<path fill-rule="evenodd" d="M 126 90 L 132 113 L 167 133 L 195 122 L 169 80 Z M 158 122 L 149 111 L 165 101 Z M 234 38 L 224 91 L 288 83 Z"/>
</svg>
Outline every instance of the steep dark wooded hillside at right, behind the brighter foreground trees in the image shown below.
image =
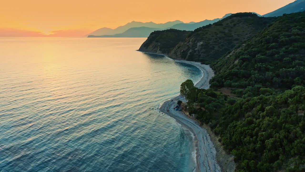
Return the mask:
<svg viewBox="0 0 305 172">
<path fill-rule="evenodd" d="M 262 84 L 290 89 L 294 84 L 305 84 L 304 28 L 305 12 L 280 17 L 213 62 L 211 66 L 217 74 L 211 82 L 237 88 Z"/>
</svg>

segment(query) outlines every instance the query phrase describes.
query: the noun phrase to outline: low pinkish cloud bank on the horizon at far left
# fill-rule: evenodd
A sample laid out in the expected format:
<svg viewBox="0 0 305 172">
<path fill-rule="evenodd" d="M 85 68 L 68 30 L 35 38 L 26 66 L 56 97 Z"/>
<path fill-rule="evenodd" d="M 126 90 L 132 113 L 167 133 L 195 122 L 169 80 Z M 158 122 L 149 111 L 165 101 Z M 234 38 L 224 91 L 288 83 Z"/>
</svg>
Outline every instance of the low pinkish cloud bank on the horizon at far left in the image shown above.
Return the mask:
<svg viewBox="0 0 305 172">
<path fill-rule="evenodd" d="M 23 30 L 19 28 L 0 28 L 0 37 L 41 37 L 45 36 L 38 31 Z"/>
</svg>

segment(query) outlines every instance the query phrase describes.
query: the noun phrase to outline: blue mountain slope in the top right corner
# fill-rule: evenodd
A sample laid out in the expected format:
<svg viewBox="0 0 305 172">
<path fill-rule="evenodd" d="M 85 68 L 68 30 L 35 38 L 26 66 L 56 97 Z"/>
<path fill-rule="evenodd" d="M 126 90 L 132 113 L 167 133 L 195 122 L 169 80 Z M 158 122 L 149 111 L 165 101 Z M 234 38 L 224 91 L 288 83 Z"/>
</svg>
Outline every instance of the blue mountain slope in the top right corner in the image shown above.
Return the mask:
<svg viewBox="0 0 305 172">
<path fill-rule="evenodd" d="M 305 11 L 305 0 L 297 0 L 271 13 L 263 15 L 263 17 L 278 17 L 283 14 L 296 13 Z"/>
</svg>

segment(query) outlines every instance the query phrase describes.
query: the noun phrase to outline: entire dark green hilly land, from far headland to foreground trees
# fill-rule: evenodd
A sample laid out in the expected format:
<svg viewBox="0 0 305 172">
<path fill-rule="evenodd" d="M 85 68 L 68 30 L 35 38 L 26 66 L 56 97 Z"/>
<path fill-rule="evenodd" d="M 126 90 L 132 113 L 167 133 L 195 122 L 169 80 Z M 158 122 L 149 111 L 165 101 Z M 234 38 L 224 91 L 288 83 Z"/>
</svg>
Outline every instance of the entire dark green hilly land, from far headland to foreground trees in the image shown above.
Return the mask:
<svg viewBox="0 0 305 172">
<path fill-rule="evenodd" d="M 220 136 L 236 171 L 305 171 L 305 12 L 157 31 L 140 50 L 211 62 L 210 89 L 181 84 L 184 109 Z"/>
</svg>

